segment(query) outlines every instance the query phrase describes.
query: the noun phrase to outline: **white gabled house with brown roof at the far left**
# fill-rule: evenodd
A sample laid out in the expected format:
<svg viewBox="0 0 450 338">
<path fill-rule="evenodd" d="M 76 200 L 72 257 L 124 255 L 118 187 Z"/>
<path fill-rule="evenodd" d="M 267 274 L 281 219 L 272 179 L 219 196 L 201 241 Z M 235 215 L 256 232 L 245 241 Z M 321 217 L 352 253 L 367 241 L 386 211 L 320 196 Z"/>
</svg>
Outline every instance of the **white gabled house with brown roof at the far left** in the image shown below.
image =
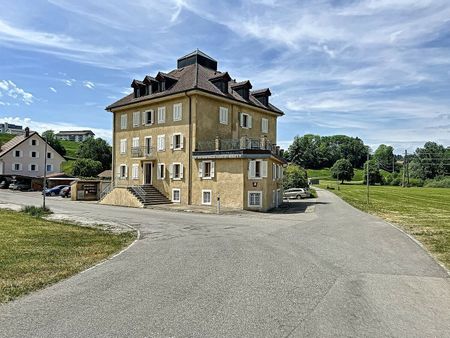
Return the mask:
<svg viewBox="0 0 450 338">
<path fill-rule="evenodd" d="M 47 159 L 45 159 L 47 157 Z M 24 135 L 18 135 L 2 145 L 0 149 L 0 175 L 40 177 L 44 175 L 44 163 L 47 162 L 47 173 L 58 173 L 65 161 L 55 149 L 47 145 L 36 132 L 25 128 Z"/>
</svg>

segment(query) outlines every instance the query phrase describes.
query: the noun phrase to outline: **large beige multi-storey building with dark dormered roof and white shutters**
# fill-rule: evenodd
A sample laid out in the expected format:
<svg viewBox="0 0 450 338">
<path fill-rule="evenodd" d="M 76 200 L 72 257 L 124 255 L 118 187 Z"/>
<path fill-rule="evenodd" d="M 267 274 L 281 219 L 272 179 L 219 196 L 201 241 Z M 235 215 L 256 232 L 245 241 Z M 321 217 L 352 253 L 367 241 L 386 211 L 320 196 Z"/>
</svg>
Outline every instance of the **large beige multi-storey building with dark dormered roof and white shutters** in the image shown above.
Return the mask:
<svg viewBox="0 0 450 338">
<path fill-rule="evenodd" d="M 277 139 L 283 112 L 268 88 L 252 91 L 201 51 L 177 69 L 134 80 L 111 104 L 113 186 L 102 202 L 173 202 L 266 211 L 282 199 L 285 161 Z"/>
</svg>

